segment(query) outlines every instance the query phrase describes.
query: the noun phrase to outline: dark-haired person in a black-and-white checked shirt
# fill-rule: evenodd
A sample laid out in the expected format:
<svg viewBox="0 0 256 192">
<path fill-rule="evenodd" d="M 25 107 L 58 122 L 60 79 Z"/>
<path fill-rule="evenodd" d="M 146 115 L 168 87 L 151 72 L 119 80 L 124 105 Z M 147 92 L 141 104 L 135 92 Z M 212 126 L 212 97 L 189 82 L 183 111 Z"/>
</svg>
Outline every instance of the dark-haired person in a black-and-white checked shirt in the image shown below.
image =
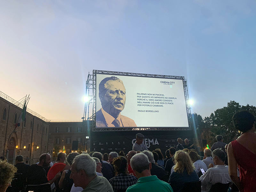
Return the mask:
<svg viewBox="0 0 256 192">
<path fill-rule="evenodd" d="M 129 175 L 127 171 L 127 161 L 125 157 L 118 156 L 114 158 L 113 165 L 116 170 L 116 176 L 109 180 L 113 191 L 126 190 L 128 187 L 137 183 L 137 177 Z"/>
</svg>

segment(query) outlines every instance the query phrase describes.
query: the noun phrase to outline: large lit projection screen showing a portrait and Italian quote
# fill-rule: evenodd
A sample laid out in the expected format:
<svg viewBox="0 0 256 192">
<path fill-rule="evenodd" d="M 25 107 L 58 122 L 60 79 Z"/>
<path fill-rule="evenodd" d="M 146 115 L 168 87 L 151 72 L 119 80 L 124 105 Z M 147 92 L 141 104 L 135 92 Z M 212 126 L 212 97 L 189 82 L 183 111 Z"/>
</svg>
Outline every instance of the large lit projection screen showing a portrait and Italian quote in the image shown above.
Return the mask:
<svg viewBox="0 0 256 192">
<path fill-rule="evenodd" d="M 188 127 L 183 80 L 96 73 L 95 120 L 96 128 Z"/>
</svg>

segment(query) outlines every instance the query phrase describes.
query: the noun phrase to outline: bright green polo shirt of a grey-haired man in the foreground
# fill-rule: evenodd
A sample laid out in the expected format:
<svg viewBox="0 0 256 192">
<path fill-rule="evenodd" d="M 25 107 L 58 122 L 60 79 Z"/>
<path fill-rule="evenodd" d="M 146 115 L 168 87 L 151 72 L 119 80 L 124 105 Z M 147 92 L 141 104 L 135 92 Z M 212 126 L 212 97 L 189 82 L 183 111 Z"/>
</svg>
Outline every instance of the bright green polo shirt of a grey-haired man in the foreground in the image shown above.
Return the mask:
<svg viewBox="0 0 256 192">
<path fill-rule="evenodd" d="M 172 187 L 162 181 L 159 180 L 156 175 L 148 176 L 148 177 L 140 177 L 136 184 L 128 187 L 126 192 L 132 191 L 147 191 L 147 192 L 173 192 Z"/>
</svg>

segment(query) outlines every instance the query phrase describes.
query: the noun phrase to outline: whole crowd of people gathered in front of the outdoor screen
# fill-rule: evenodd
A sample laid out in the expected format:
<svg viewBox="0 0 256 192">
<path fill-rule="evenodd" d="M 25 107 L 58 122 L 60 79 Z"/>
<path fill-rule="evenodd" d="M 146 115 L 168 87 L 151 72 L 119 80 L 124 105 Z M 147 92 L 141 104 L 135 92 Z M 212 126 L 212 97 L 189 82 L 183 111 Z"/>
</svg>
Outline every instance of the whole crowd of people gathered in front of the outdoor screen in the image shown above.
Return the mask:
<svg viewBox="0 0 256 192">
<path fill-rule="evenodd" d="M 23 156 L 16 156 L 12 165 L 0 157 L 0 192 L 10 185 L 15 173 L 22 173 L 26 185 L 49 183 L 56 192 L 122 192 L 166 191 L 181 192 L 186 183 L 201 182 L 202 192 L 211 191 L 215 184 L 223 184 L 227 191 L 256 191 L 256 134 L 255 117 L 247 111 L 238 111 L 232 118 L 241 136 L 228 145 L 221 135 L 212 148 L 198 155 L 189 140 L 178 138 L 178 144 L 165 151 L 149 151 L 143 144 L 144 135 L 136 134 L 133 150 L 102 154 L 73 152 L 66 156 L 58 153 L 57 162 L 66 165 L 53 179 L 47 173 L 53 165 L 51 155 L 44 153 L 37 164 L 23 163 Z M 250 140 L 250 142 L 248 142 Z"/>
</svg>

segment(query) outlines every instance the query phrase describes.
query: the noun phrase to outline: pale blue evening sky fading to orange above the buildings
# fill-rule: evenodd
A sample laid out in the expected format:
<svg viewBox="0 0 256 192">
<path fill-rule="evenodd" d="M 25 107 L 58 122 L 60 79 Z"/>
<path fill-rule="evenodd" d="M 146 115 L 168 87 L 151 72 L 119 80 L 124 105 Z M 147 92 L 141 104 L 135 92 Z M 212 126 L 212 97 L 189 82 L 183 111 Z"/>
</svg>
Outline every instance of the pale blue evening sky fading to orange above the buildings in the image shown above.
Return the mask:
<svg viewBox="0 0 256 192">
<path fill-rule="evenodd" d="M 185 76 L 192 112 L 256 106 L 255 1 L 1 1 L 0 91 L 83 116 L 93 69 Z"/>
</svg>

